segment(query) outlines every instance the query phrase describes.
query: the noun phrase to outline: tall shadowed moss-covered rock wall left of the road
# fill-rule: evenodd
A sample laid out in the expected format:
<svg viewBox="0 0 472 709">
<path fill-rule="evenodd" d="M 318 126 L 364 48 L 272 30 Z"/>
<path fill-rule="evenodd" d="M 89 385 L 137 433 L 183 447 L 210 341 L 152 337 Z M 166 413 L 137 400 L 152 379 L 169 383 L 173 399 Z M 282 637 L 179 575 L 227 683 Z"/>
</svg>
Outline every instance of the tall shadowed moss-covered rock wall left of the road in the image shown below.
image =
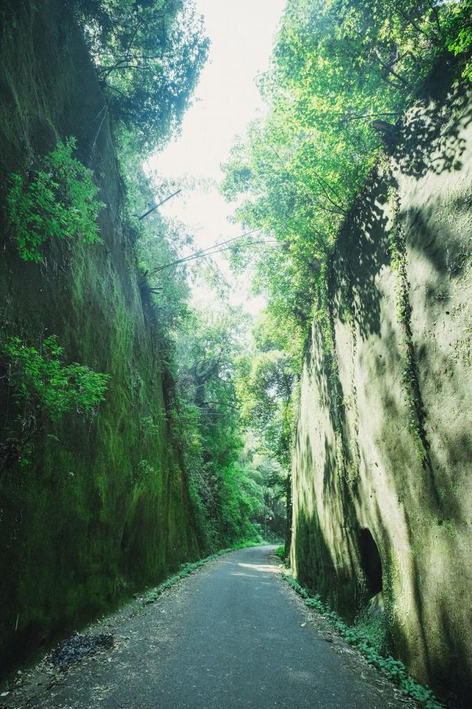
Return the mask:
<svg viewBox="0 0 472 709">
<path fill-rule="evenodd" d="M 0 476 L 0 665 L 196 557 L 169 430 L 157 320 L 140 294 L 106 101 L 64 3 L 2 16 L 0 179 L 77 137 L 106 203 L 103 242 L 57 242 L 21 262 L 1 219 L 2 332 L 57 335 L 67 362 L 111 375 L 96 417 L 68 414 Z M 4 203 L 3 193 L 1 201 Z M 1 423 L 8 420 L 1 393 Z"/>
</svg>

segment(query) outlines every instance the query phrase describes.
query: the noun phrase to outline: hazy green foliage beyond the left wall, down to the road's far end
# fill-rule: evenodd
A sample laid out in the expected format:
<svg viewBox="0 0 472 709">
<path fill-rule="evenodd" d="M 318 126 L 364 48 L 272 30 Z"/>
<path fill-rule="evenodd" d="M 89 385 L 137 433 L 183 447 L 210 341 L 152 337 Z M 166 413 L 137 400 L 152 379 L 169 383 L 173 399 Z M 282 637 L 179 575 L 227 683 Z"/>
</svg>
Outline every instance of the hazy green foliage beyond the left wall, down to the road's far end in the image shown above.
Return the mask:
<svg viewBox="0 0 472 709">
<path fill-rule="evenodd" d="M 191 236 L 158 210 L 140 219 L 174 186 L 157 175 L 145 177 L 132 145 L 122 152 L 122 162 L 142 299 L 157 330 L 169 423 L 189 480 L 200 546 L 214 551 L 257 540 L 261 533 L 280 538 L 285 511 L 278 466 L 255 450 L 237 398 L 238 360 L 249 319 L 237 309 L 202 312 L 192 306 L 189 269 L 179 257 L 191 250 Z M 201 285 L 208 287 L 207 269 L 197 270 Z"/>
</svg>

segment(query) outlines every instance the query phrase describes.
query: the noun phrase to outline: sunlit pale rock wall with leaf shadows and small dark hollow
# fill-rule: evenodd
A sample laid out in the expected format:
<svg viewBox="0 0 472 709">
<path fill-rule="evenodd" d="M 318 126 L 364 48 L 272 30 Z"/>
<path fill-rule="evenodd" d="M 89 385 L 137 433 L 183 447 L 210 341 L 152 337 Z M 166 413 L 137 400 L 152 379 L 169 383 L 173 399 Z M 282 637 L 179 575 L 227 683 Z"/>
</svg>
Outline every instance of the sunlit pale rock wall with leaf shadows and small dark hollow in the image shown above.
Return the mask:
<svg viewBox="0 0 472 709">
<path fill-rule="evenodd" d="M 313 323 L 291 557 L 345 615 L 373 599 L 410 673 L 459 702 L 472 664 L 470 95 L 434 86 L 387 152 Z"/>
</svg>

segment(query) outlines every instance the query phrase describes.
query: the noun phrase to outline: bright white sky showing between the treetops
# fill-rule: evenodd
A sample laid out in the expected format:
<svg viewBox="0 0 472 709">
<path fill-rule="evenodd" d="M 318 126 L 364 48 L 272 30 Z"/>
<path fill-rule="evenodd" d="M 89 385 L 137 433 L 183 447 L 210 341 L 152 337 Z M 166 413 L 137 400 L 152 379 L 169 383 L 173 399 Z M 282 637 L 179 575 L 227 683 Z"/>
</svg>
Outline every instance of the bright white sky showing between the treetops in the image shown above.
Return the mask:
<svg viewBox="0 0 472 709">
<path fill-rule="evenodd" d="M 151 158 L 151 169 L 176 180 L 177 185 L 184 176 L 220 182 L 220 164 L 227 160 L 235 135 L 244 135 L 247 123 L 264 111 L 254 79 L 269 66 L 285 1 L 196 0 L 211 42 L 208 61 L 193 106 L 184 117 L 181 136 Z M 187 189 L 160 211 L 184 222 L 196 250 L 241 233 L 239 226 L 227 222 L 233 209 L 217 189 Z M 228 276 L 222 257 L 217 258 Z M 247 279 L 237 283 L 232 278 L 232 284 L 232 304 L 242 303 L 252 313 L 262 307 L 260 298 L 249 296 Z M 207 308 L 213 297 L 202 286 L 193 296 Z"/>
</svg>

